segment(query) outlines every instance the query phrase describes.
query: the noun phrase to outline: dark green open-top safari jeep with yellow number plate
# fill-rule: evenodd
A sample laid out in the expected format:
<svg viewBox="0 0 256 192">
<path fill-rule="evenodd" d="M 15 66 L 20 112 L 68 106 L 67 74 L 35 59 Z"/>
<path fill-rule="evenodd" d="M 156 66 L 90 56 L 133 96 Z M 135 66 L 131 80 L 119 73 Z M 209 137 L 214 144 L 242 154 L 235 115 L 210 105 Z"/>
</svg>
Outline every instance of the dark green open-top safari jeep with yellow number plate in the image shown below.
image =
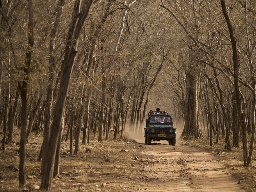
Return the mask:
<svg viewBox="0 0 256 192">
<path fill-rule="evenodd" d="M 144 128 L 145 144 L 151 141 L 167 140 L 169 145 L 176 144 L 176 128 L 173 128 L 170 115 L 149 115 Z"/>
</svg>

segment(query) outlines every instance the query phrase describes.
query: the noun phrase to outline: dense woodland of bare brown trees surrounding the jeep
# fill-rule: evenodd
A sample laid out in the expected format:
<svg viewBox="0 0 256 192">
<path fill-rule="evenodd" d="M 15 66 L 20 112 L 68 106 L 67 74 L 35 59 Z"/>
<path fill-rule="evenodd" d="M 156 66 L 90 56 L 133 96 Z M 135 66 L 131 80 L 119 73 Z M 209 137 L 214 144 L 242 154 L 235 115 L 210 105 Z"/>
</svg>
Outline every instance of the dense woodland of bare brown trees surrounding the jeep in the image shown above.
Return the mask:
<svg viewBox="0 0 256 192">
<path fill-rule="evenodd" d="M 90 135 L 142 134 L 156 107 L 182 138 L 223 136 L 251 165 L 254 0 L 0 0 L 0 12 L 1 147 L 20 130 L 20 187 L 31 132 L 50 190 L 63 134 L 76 154 Z"/>
</svg>

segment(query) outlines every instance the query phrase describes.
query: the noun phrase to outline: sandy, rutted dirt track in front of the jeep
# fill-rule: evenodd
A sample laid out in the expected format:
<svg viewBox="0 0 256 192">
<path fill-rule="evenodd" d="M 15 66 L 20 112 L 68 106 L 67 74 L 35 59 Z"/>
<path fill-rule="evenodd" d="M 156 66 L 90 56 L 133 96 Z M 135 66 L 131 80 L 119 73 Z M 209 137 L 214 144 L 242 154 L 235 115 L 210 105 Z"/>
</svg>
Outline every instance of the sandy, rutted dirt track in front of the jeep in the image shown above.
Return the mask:
<svg viewBox="0 0 256 192">
<path fill-rule="evenodd" d="M 204 150 L 167 141 L 144 147 L 156 164 L 144 167 L 148 182 L 141 183 L 142 191 L 245 191 L 220 160 Z"/>
</svg>

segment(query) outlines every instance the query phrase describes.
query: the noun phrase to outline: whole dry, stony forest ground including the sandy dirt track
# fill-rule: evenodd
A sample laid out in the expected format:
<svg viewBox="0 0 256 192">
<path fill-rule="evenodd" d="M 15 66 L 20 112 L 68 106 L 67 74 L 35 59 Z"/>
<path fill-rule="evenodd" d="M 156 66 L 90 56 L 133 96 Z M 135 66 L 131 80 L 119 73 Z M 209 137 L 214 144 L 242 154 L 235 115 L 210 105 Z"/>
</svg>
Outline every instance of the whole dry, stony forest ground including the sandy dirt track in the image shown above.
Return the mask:
<svg viewBox="0 0 256 192">
<path fill-rule="evenodd" d="M 19 141 L 19 133 L 14 136 Z M 41 143 L 41 136 L 30 136 L 24 189 L 18 188 L 19 145 L 7 145 L 5 153 L 1 150 L 0 191 L 42 191 L 37 160 Z M 81 145 L 79 154 L 70 155 L 69 142 L 62 142 L 60 174 L 53 179 L 52 191 L 255 191 L 255 159 L 246 168 L 241 147 L 224 152 L 223 146 L 210 148 L 204 140 L 145 145 L 142 135 L 102 143 L 91 139 Z"/>
</svg>

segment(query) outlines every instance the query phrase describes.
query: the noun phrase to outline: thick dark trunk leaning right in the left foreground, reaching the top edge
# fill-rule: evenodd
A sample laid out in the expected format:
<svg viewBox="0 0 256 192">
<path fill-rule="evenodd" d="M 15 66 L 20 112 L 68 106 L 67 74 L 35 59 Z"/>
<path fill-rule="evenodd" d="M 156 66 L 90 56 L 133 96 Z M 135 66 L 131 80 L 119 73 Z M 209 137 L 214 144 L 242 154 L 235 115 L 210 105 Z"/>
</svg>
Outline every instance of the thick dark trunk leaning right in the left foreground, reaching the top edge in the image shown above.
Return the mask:
<svg viewBox="0 0 256 192">
<path fill-rule="evenodd" d="M 62 62 L 62 72 L 60 77 L 60 90 L 58 99 L 56 101 L 56 108 L 54 111 L 52 129 L 50 134 L 49 143 L 46 147 L 47 156 L 44 162 L 44 172 L 42 173 L 41 188 L 52 190 L 52 177 L 55 155 L 58 144 L 58 136 L 61 132 L 61 122 L 64 114 L 64 106 L 66 104 L 66 96 L 68 91 L 69 79 L 73 70 L 74 60 L 77 53 L 78 37 L 81 28 L 86 19 L 92 0 L 76 1 L 72 15 L 72 22 L 68 31 L 66 52 Z"/>
</svg>

